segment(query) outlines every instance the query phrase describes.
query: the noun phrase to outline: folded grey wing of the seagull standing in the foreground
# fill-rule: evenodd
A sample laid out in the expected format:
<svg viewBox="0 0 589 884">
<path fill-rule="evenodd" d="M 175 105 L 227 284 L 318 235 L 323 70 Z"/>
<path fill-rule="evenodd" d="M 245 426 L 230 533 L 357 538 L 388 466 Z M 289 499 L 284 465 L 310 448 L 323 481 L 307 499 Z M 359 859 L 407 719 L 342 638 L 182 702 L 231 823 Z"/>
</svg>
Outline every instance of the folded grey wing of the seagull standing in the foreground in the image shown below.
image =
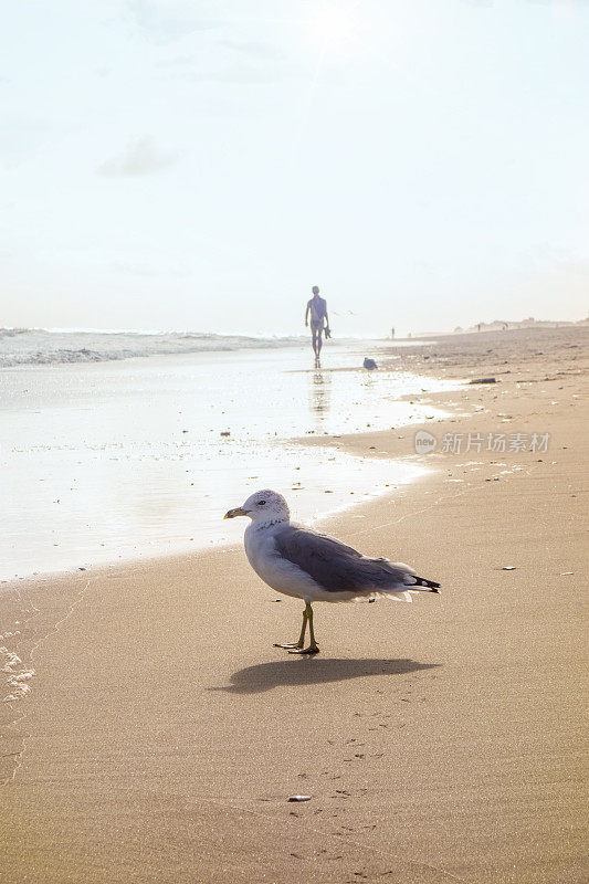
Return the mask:
<svg viewBox="0 0 589 884">
<path fill-rule="evenodd" d="M 407 565 L 368 558 L 333 537 L 296 525 L 281 526 L 274 543 L 280 556 L 306 571 L 326 592 L 402 592 L 425 585 Z"/>
</svg>

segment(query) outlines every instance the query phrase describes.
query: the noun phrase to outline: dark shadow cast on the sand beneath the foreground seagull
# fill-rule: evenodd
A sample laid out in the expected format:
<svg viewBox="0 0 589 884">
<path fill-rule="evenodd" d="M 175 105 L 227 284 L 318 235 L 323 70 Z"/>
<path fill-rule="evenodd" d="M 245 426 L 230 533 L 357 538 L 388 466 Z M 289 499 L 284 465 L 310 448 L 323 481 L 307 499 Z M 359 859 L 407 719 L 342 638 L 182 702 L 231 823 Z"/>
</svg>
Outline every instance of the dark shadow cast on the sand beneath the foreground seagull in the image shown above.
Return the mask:
<svg viewBox="0 0 589 884">
<path fill-rule="evenodd" d="M 260 694 L 273 687 L 298 687 L 308 684 L 343 682 L 367 675 L 408 675 L 411 672 L 432 670 L 439 663 L 418 663 L 414 660 L 348 660 L 332 657 L 290 657 L 271 663 L 257 663 L 233 673 L 231 684 L 209 687 L 230 694 Z"/>
</svg>

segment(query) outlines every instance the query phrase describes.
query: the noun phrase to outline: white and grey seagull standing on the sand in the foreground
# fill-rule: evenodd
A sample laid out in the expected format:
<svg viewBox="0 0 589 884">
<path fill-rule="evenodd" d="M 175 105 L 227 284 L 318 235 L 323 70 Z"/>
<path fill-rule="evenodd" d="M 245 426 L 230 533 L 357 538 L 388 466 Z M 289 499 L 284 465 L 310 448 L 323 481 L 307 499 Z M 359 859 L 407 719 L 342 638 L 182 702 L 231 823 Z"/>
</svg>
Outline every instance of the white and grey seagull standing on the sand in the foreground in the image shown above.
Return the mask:
<svg viewBox="0 0 589 884">
<path fill-rule="evenodd" d="M 313 631 L 313 601 L 354 601 L 382 596 L 411 601 L 410 592 L 438 592 L 440 583 L 418 577 L 401 561 L 371 559 L 350 546 L 291 522 L 282 494 L 257 491 L 224 518 L 249 516 L 244 546 L 250 565 L 269 587 L 303 599 L 303 627 L 298 641 L 274 644 L 291 654 L 317 654 Z M 305 634 L 309 629 L 309 644 Z"/>
</svg>

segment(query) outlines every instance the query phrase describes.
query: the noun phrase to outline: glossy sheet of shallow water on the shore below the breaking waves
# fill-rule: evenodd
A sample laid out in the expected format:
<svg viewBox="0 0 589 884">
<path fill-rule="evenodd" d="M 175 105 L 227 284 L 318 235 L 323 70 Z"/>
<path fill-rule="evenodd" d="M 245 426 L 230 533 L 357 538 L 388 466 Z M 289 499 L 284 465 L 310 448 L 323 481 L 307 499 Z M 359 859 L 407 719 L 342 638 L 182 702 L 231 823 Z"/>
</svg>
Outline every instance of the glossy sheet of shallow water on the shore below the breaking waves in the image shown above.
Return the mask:
<svg viewBox="0 0 589 884">
<path fill-rule="evenodd" d="M 0 579 L 238 543 L 222 516 L 263 487 L 309 522 L 411 481 L 293 441 L 439 413 L 399 397 L 444 382 L 367 372 L 365 351 L 329 344 L 322 369 L 308 345 L 0 369 Z"/>
</svg>

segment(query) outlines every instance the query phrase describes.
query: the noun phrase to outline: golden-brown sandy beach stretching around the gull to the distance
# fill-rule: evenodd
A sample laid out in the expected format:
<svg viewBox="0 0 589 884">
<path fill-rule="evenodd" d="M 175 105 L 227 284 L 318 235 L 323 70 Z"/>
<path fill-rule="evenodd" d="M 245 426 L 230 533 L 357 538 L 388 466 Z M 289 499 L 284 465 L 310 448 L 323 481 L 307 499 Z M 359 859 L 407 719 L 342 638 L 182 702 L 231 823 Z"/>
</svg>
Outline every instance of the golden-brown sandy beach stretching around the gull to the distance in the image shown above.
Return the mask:
<svg viewBox="0 0 589 884">
<path fill-rule="evenodd" d="M 414 397 L 443 421 L 317 440 L 428 467 L 320 527 L 442 594 L 317 604 L 316 657 L 272 646 L 301 604 L 241 545 L 7 587 L 32 690 L 1 709 L 0 881 L 587 881 L 587 338 L 372 352 L 496 382 Z"/>
</svg>

